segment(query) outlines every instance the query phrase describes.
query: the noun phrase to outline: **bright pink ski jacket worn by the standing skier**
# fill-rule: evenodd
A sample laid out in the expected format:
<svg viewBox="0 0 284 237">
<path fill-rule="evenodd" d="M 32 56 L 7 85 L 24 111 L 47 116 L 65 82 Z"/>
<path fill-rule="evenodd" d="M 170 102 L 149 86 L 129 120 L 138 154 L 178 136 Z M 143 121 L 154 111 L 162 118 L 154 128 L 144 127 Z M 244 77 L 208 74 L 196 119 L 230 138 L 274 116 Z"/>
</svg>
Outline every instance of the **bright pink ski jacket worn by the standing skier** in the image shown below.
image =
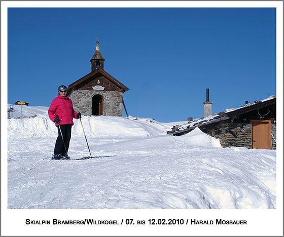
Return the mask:
<svg viewBox="0 0 284 237">
<path fill-rule="evenodd" d="M 72 100 L 70 100 L 67 96 L 63 97 L 58 95 L 58 97 L 52 100 L 48 109 L 48 116 L 52 121 L 54 121 L 56 115 L 59 117 L 60 125 L 74 125 L 73 118 L 78 119 L 77 113 L 73 108 Z M 55 125 L 58 126 L 58 124 Z"/>
</svg>

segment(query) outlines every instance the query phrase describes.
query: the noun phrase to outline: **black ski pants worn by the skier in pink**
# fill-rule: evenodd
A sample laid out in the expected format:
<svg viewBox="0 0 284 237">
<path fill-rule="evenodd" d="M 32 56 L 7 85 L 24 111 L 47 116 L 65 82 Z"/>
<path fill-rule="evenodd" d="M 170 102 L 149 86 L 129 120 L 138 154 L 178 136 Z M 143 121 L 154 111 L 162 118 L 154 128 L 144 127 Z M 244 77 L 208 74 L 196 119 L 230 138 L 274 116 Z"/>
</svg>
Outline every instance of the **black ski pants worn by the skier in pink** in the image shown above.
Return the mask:
<svg viewBox="0 0 284 237">
<path fill-rule="evenodd" d="M 72 124 L 60 125 L 60 128 L 61 128 L 62 136 L 63 136 L 63 139 L 64 139 L 64 143 L 65 143 L 65 146 L 66 146 L 66 150 L 68 152 L 69 142 L 70 142 L 70 139 L 71 139 Z M 62 140 L 61 133 L 60 133 L 60 130 L 59 130 L 59 126 L 57 126 L 57 129 L 58 129 L 58 137 L 57 137 L 56 142 L 55 142 L 54 154 L 55 155 L 56 154 L 65 155 L 66 151 L 65 151 L 65 148 L 64 148 L 64 144 L 63 144 L 63 140 Z"/>
</svg>

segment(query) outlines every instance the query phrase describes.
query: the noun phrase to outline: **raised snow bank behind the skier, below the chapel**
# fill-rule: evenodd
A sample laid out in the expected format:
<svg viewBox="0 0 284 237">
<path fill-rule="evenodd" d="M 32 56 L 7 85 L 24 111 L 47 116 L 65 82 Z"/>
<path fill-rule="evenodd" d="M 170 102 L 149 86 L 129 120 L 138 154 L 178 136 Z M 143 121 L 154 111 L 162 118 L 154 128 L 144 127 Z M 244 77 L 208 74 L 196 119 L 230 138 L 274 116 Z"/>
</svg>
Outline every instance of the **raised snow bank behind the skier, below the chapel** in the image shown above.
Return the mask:
<svg viewBox="0 0 284 237">
<path fill-rule="evenodd" d="M 8 104 L 9 107 L 9 104 Z M 48 107 L 14 106 L 16 111 L 8 119 L 8 137 L 56 137 L 57 129 L 48 117 Z M 16 116 L 16 117 L 15 117 Z M 82 116 L 82 125 L 88 137 L 151 137 L 165 134 L 171 125 L 153 119 L 115 116 Z M 84 136 L 80 120 L 74 119 L 72 136 Z"/>
</svg>

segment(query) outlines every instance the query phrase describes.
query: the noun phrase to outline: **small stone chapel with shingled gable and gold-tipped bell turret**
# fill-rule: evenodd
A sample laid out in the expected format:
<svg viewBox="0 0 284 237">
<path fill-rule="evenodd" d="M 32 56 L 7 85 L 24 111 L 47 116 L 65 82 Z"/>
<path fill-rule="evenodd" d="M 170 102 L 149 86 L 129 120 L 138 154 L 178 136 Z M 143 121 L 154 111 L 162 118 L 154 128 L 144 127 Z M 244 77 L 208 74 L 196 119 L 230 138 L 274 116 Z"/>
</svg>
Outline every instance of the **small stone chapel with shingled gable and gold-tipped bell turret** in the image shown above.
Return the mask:
<svg viewBox="0 0 284 237">
<path fill-rule="evenodd" d="M 104 70 L 98 43 L 90 59 L 91 72 L 70 84 L 67 93 L 75 111 L 84 115 L 122 116 L 123 93 L 129 89 Z"/>
</svg>

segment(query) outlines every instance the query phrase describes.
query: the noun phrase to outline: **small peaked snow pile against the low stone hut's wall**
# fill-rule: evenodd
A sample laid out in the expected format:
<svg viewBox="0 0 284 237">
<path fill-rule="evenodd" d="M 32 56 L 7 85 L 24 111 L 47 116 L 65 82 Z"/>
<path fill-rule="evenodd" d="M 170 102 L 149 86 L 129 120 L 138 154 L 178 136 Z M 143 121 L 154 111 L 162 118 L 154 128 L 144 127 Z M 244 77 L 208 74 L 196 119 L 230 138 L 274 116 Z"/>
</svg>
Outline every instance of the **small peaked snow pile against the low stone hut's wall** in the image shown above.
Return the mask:
<svg viewBox="0 0 284 237">
<path fill-rule="evenodd" d="M 191 146 L 222 147 L 219 139 L 203 133 L 198 127 L 183 136 L 176 137 L 176 140 Z"/>
</svg>

